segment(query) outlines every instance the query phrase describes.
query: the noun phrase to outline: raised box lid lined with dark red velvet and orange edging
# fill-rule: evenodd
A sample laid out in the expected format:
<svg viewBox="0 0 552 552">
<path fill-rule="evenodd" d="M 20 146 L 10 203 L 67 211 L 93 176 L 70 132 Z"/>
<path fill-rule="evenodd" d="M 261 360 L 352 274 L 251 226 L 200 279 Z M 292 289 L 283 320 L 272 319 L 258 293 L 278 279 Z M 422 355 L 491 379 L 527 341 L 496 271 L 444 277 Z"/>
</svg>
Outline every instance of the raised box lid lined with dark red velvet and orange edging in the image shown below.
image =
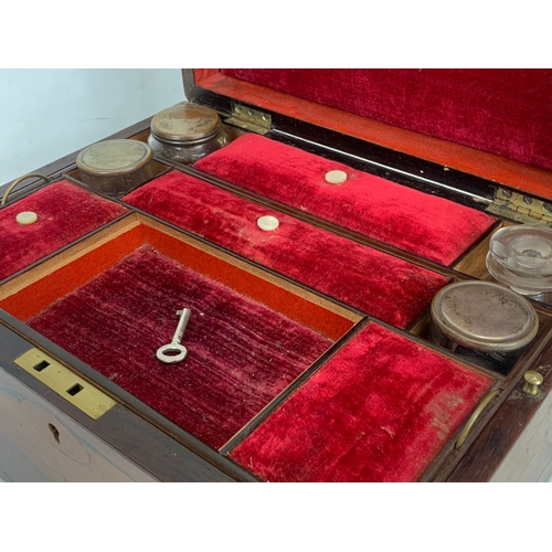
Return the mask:
<svg viewBox="0 0 552 552">
<path fill-rule="evenodd" d="M 552 198 L 552 70 L 184 70 L 183 79 L 192 102 L 216 94 Z"/>
</svg>

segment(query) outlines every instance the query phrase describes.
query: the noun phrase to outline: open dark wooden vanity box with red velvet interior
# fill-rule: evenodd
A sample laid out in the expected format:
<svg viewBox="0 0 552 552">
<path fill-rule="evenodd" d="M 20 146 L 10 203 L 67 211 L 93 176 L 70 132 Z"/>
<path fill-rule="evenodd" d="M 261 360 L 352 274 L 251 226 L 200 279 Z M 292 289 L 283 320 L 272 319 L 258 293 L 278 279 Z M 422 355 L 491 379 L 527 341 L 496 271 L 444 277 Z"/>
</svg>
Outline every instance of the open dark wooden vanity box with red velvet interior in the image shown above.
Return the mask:
<svg viewBox="0 0 552 552">
<path fill-rule="evenodd" d="M 0 478 L 537 480 L 552 295 L 445 311 L 505 357 L 432 308 L 552 224 L 552 71 L 182 74 L 189 144 L 158 114 L 2 188 Z"/>
</svg>

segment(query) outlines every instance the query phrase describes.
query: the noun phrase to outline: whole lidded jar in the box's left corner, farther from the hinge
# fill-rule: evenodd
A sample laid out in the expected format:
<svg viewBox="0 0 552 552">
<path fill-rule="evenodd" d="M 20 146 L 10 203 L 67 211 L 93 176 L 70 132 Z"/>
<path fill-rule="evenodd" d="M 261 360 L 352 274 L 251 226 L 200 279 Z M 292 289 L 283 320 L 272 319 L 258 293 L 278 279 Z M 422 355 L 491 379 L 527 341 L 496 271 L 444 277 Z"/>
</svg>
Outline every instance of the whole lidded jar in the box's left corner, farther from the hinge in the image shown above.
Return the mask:
<svg viewBox="0 0 552 552">
<path fill-rule="evenodd" d="M 81 180 L 99 192 L 119 195 L 155 176 L 151 148 L 138 140 L 105 140 L 83 149 Z"/>
</svg>

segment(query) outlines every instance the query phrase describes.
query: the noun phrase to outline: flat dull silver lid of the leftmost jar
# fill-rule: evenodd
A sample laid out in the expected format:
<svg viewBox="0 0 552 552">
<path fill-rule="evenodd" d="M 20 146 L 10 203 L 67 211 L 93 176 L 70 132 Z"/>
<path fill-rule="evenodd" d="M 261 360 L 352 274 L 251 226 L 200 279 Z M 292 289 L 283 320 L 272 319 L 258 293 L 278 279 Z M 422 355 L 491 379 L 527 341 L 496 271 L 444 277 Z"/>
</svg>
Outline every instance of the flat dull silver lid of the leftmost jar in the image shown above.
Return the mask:
<svg viewBox="0 0 552 552">
<path fill-rule="evenodd" d="M 113 177 L 136 171 L 152 157 L 151 148 L 141 141 L 105 140 L 83 149 L 76 158 L 76 164 L 87 174 Z"/>
</svg>

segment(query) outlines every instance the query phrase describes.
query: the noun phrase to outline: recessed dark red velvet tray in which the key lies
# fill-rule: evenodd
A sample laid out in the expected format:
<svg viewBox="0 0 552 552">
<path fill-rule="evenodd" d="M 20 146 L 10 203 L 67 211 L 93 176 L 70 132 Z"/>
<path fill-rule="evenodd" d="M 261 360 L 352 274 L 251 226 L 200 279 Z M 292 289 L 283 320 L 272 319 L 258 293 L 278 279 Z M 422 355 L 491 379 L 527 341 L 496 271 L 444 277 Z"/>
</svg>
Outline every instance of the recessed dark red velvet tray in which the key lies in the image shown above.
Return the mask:
<svg viewBox="0 0 552 552">
<path fill-rule="evenodd" d="M 183 307 L 188 357 L 163 364 Z M 359 320 L 138 215 L 0 287 L 0 308 L 213 448 Z"/>
</svg>

